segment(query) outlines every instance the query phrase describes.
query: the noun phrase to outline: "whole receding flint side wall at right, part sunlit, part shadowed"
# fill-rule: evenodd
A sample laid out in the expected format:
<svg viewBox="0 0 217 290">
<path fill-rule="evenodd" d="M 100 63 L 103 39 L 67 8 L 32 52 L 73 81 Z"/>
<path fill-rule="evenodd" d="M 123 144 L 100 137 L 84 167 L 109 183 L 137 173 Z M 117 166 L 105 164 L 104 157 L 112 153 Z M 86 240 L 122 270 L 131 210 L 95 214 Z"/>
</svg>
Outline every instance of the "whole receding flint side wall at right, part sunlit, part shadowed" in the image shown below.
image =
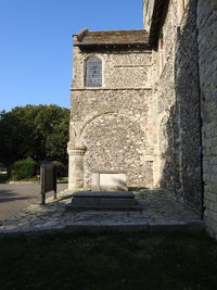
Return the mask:
<svg viewBox="0 0 217 290">
<path fill-rule="evenodd" d="M 155 88 L 158 116 L 159 184 L 175 199 L 201 211 L 200 86 L 196 1 L 177 23 L 170 1 L 163 25 L 165 65 Z M 157 64 L 156 64 L 157 65 Z"/>
</svg>

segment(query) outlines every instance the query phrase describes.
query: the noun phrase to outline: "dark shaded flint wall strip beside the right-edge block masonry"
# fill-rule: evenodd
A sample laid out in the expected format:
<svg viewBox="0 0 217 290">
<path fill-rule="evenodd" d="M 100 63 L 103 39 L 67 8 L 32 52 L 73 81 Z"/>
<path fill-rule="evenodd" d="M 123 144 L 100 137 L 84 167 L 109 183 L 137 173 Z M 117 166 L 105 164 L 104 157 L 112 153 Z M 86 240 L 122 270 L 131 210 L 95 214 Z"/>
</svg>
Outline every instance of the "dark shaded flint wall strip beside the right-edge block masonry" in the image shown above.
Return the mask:
<svg viewBox="0 0 217 290">
<path fill-rule="evenodd" d="M 196 28 L 197 0 L 189 2 L 177 35 L 175 91 L 178 103 L 179 166 L 182 199 L 202 211 L 200 76 Z"/>
</svg>

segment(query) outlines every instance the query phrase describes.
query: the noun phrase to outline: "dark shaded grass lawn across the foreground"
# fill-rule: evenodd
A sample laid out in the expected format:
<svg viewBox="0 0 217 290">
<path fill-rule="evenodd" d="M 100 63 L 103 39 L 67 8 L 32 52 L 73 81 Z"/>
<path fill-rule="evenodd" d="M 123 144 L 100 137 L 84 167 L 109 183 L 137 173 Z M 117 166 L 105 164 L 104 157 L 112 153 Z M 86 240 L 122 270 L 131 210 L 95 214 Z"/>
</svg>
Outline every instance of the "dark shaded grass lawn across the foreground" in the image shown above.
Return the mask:
<svg viewBox="0 0 217 290">
<path fill-rule="evenodd" d="M 217 289 L 203 235 L 48 235 L 0 239 L 0 289 Z"/>
</svg>

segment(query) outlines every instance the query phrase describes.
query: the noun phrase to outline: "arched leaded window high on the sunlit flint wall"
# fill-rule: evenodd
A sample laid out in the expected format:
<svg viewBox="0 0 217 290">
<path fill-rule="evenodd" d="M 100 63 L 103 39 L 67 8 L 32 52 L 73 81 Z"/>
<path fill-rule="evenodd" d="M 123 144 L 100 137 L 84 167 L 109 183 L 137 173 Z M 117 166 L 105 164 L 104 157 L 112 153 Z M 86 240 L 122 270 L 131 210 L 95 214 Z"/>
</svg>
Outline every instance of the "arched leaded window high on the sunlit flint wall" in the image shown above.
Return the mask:
<svg viewBox="0 0 217 290">
<path fill-rule="evenodd" d="M 85 86 L 102 87 L 102 61 L 98 56 L 91 56 L 85 63 Z"/>
</svg>

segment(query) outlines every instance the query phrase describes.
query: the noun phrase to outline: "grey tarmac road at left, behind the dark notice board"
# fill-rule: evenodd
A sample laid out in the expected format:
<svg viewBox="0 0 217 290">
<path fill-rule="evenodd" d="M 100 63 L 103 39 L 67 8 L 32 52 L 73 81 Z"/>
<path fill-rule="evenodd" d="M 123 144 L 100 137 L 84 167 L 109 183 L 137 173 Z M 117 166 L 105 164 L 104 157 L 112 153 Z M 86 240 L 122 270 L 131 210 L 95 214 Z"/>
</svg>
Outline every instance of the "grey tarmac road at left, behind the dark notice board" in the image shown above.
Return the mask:
<svg viewBox="0 0 217 290">
<path fill-rule="evenodd" d="M 58 192 L 67 188 L 67 184 L 58 185 Z M 51 197 L 52 192 L 48 194 Z M 0 184 L 0 220 L 18 213 L 34 200 L 40 199 L 40 185 L 8 185 Z"/>
</svg>

